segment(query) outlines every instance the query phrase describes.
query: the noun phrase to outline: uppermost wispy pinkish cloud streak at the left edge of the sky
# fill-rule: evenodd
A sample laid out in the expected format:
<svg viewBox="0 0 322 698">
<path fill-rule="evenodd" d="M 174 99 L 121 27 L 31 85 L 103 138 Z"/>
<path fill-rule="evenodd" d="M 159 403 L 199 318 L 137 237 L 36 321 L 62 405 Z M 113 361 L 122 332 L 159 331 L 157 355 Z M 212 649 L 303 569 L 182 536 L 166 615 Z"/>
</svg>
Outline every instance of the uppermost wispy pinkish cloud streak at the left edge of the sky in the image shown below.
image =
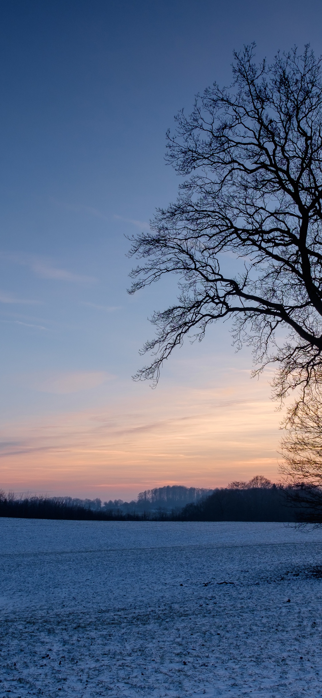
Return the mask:
<svg viewBox="0 0 322 698">
<path fill-rule="evenodd" d="M 52 265 L 50 260 L 38 257 L 37 255 L 27 255 L 25 253 L 0 252 L 0 258 L 6 259 L 14 264 L 29 267 L 31 271 L 40 279 L 53 279 L 54 281 L 72 281 L 75 283 L 95 283 L 97 279 L 93 276 L 74 274 L 68 269 L 61 269 Z"/>
</svg>

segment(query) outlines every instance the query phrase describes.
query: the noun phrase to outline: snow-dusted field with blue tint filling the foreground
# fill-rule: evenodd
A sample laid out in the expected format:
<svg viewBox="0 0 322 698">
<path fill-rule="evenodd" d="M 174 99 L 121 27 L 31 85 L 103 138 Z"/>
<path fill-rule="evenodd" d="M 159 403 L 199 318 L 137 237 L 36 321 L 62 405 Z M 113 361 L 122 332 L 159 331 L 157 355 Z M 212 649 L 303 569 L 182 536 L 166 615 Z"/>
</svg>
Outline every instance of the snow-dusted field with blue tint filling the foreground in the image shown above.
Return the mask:
<svg viewBox="0 0 322 698">
<path fill-rule="evenodd" d="M 0 519 L 0 698 L 322 695 L 322 531 Z"/>
</svg>

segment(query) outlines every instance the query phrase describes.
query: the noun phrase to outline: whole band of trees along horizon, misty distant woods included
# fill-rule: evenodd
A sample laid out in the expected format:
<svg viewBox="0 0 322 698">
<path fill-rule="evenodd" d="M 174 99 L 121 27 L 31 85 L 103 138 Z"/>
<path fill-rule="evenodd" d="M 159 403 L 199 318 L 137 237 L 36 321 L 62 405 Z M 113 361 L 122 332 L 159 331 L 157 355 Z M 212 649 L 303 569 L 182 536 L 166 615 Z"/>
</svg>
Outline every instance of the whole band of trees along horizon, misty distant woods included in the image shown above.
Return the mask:
<svg viewBox="0 0 322 698">
<path fill-rule="evenodd" d="M 157 489 L 146 491 L 137 501 L 110 500 L 102 504 L 100 499 L 71 497 L 27 496 L 17 497 L 13 492 L 0 490 L 0 517 L 27 519 L 70 519 L 78 521 L 289 521 L 322 523 L 322 492 L 319 505 L 316 489 L 312 493 L 305 486 L 272 484 L 262 475 L 250 482 L 234 481 L 225 488 L 210 490 L 201 496 L 195 489 L 195 501 L 184 506 L 178 504 L 192 497 L 194 488 L 169 487 L 167 498 L 151 496 Z M 171 489 L 173 492 L 171 493 Z M 179 492 L 176 492 L 176 490 Z M 184 493 L 186 490 L 186 494 Z M 208 490 L 206 490 L 208 492 Z M 143 495 L 145 493 L 140 493 Z M 184 496 L 185 494 L 185 496 Z M 153 501 L 154 498 L 154 501 Z M 152 499 L 152 501 L 151 501 Z M 163 507 L 159 506 L 163 501 Z"/>
</svg>

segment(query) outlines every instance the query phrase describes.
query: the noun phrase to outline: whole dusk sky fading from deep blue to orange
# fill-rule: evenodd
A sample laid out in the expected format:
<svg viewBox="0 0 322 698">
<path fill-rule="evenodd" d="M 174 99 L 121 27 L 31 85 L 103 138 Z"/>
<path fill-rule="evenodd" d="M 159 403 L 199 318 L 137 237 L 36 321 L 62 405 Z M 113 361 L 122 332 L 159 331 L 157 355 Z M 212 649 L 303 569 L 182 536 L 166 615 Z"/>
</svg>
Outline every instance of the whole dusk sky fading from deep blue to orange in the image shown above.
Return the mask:
<svg viewBox="0 0 322 698">
<path fill-rule="evenodd" d="M 135 498 L 278 480 L 281 413 L 228 325 L 133 383 L 171 277 L 130 297 L 125 255 L 176 198 L 165 132 L 194 94 L 311 43 L 320 0 L 0 3 L 0 488 Z"/>
</svg>

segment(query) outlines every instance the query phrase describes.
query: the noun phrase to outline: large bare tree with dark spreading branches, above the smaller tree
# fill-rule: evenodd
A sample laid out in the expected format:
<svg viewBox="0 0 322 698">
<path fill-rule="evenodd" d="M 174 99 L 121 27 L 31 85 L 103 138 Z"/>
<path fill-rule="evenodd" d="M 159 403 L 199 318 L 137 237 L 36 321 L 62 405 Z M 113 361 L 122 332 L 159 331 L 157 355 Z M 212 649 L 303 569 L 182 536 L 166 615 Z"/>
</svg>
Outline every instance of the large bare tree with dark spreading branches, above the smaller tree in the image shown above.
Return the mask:
<svg viewBox="0 0 322 698">
<path fill-rule="evenodd" d="M 231 87 L 214 84 L 176 117 L 168 158 L 186 179 L 151 232 L 132 239 L 143 261 L 130 292 L 170 273 L 180 288 L 153 315 L 143 350 L 153 358 L 136 378 L 158 380 L 185 335 L 201 340 L 230 318 L 236 346 L 252 345 L 254 373 L 277 362 L 283 399 L 322 370 L 321 59 L 307 46 L 256 66 L 254 45 L 234 58 Z"/>
</svg>

